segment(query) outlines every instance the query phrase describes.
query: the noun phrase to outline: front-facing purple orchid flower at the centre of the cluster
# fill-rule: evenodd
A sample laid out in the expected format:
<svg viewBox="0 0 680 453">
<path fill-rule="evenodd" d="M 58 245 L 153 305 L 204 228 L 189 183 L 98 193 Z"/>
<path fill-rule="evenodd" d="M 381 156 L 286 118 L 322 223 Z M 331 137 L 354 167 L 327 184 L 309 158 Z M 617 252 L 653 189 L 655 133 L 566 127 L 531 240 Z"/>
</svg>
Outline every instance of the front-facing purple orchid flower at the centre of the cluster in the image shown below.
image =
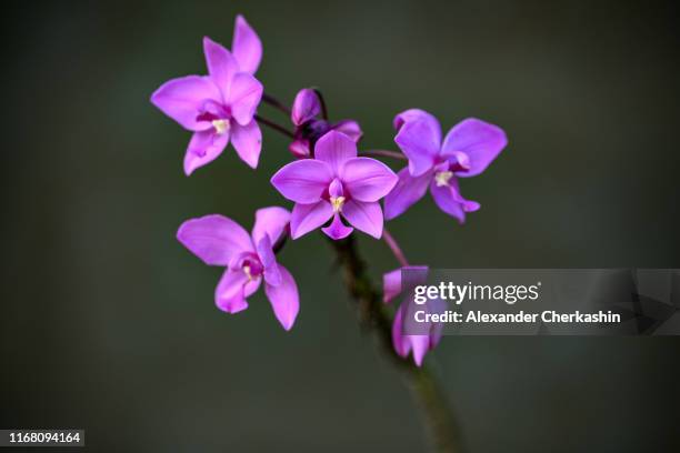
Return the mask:
<svg viewBox="0 0 680 453">
<path fill-rule="evenodd" d="M 314 147 L 314 159 L 302 159 L 280 169 L 271 183 L 294 201 L 290 220 L 292 239 L 332 222 L 322 231 L 332 239 L 347 238 L 353 228 L 380 238 L 382 210 L 378 200 L 397 183 L 384 163 L 357 157 L 357 143 L 343 133 L 330 131 Z"/>
</svg>

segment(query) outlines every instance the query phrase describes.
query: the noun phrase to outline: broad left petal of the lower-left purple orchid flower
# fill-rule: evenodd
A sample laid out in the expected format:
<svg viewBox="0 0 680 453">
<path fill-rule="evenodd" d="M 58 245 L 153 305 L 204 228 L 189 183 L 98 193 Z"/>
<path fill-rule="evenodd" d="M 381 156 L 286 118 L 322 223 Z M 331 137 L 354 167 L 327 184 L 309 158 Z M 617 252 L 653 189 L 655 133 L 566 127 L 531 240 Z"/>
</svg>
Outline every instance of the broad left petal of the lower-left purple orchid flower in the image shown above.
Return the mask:
<svg viewBox="0 0 680 453">
<path fill-rule="evenodd" d="M 208 265 L 228 265 L 239 253 L 253 250 L 246 230 L 219 214 L 187 220 L 177 239 Z"/>
</svg>

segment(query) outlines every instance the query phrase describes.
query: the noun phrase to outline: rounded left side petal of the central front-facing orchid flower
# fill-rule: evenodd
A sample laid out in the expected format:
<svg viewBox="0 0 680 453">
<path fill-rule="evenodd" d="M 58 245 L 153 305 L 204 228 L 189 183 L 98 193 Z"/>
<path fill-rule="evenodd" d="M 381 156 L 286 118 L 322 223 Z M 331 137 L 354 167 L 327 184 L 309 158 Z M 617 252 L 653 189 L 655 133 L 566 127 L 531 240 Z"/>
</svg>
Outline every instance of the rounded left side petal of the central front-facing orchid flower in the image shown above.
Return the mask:
<svg viewBox="0 0 680 453">
<path fill-rule="evenodd" d="M 271 183 L 287 199 L 308 204 L 321 199 L 332 179 L 326 162 L 303 159 L 281 168 L 271 178 Z"/>
</svg>

